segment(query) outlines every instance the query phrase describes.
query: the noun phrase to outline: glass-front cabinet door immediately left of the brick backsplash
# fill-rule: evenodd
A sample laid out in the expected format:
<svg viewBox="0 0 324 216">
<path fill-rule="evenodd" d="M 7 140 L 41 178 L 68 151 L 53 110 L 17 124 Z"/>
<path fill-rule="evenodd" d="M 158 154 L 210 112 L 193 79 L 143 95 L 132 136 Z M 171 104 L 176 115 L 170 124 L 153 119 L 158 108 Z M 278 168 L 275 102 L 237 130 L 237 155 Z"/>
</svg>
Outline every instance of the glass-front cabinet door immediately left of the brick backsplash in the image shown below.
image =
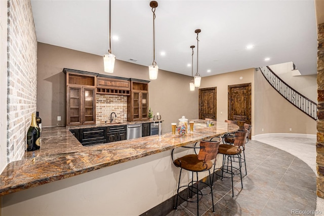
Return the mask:
<svg viewBox="0 0 324 216">
<path fill-rule="evenodd" d="M 94 124 L 96 118 L 95 110 L 95 88 L 83 88 L 83 123 Z"/>
</svg>

